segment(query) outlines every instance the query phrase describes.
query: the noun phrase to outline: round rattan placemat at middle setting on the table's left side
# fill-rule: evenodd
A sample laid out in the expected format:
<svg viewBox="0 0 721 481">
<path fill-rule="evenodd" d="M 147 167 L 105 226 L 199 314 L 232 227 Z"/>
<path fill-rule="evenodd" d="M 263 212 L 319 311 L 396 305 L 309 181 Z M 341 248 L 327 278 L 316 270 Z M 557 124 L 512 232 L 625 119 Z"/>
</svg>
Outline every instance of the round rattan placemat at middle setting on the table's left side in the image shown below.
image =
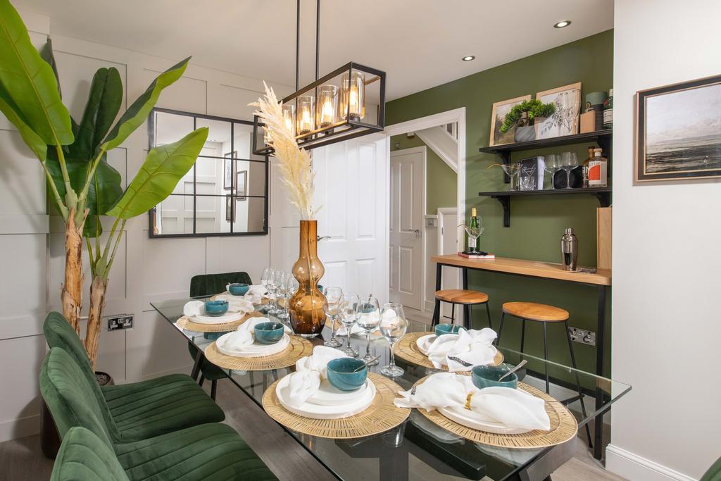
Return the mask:
<svg viewBox="0 0 721 481">
<path fill-rule="evenodd" d="M 218 346 L 213 342 L 205 348 L 205 358 L 223 369 L 234 369 L 236 371 L 265 371 L 267 369 L 287 368 L 295 365 L 298 359 L 310 356 L 313 352 L 313 345 L 309 340 L 296 335 L 290 337 L 291 343 L 288 344 L 287 348 L 270 356 L 260 358 L 226 356 L 218 350 Z"/>
</svg>

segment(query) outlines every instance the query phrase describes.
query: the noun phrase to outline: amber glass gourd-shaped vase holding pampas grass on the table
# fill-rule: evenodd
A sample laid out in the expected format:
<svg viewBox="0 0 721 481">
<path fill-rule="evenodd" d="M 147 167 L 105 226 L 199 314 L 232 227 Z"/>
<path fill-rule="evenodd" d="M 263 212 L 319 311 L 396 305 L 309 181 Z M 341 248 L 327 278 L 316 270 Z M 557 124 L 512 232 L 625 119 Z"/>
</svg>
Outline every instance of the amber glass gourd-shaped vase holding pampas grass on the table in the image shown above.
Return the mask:
<svg viewBox="0 0 721 481">
<path fill-rule="evenodd" d="M 293 277 L 298 280 L 298 292 L 291 297 L 288 312 L 297 335 L 316 337 L 323 330 L 325 313 L 324 296 L 318 281 L 325 269 L 318 259 L 317 221 L 301 221 L 300 257 L 293 264 Z"/>
</svg>

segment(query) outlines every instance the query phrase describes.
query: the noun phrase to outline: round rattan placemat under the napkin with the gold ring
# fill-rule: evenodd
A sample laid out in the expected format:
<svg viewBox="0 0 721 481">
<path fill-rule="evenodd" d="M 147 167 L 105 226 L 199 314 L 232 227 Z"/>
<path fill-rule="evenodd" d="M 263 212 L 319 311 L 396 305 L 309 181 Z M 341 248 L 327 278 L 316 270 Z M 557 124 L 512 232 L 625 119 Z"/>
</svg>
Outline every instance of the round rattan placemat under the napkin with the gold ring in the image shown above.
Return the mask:
<svg viewBox="0 0 721 481">
<path fill-rule="evenodd" d="M 423 384 L 428 377 L 429 376 L 425 376 L 423 379 L 419 379 L 415 384 Z M 456 423 L 456 421 L 446 418 L 446 416 L 442 415 L 437 410 L 428 412 L 425 409 L 419 409 L 418 412 L 449 433 L 454 433 L 468 439 L 469 441 L 486 444 L 487 446 L 495 446 L 498 448 L 541 449 L 549 446 L 556 446 L 557 444 L 563 444 L 576 436 L 576 432 L 578 431 L 576 418 L 573 417 L 571 412 L 567 410 L 561 402 L 554 400 L 554 398 L 550 397 L 545 392 L 523 382 L 518 383 L 518 389 L 523 389 L 523 391 L 533 394 L 536 397 L 540 397 L 546 402 L 546 412 L 551 420 L 550 431 L 535 430 L 528 431 L 528 433 L 523 434 L 486 433 L 485 431 L 478 431 Z"/>
</svg>

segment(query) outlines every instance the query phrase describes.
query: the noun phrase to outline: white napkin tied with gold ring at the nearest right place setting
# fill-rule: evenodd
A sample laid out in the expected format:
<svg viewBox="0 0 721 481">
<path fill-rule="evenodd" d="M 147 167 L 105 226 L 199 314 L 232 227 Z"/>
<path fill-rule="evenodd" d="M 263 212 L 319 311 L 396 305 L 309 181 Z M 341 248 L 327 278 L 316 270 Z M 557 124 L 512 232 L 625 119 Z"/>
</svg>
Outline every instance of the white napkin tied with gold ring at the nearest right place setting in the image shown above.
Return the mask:
<svg viewBox="0 0 721 481">
<path fill-rule="evenodd" d="M 521 389 L 486 387 L 478 389 L 471 376 L 453 373 L 433 374 L 417 387 L 415 394 L 401 391 L 393 402 L 397 407 L 420 407 L 432 411 L 438 408 L 461 409 L 471 397 L 471 410 L 481 422 L 500 423 L 512 429 L 540 429 L 549 431 L 551 420 L 540 397 Z"/>
</svg>

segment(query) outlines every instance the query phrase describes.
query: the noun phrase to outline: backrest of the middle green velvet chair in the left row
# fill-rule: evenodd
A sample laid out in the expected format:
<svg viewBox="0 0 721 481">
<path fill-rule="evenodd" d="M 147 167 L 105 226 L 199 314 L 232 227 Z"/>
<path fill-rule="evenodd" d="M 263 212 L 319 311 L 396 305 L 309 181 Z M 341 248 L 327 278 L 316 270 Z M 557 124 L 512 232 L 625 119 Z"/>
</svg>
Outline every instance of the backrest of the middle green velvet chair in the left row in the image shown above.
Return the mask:
<svg viewBox="0 0 721 481">
<path fill-rule="evenodd" d="M 97 385 L 97 381 L 93 382 Z M 70 428 L 81 426 L 112 449 L 115 441 L 120 440 L 120 433 L 107 404 L 97 402 L 93 382 L 65 350 L 50 348 L 40 369 L 40 393 L 53 415 L 60 437 L 64 438 Z"/>
</svg>

